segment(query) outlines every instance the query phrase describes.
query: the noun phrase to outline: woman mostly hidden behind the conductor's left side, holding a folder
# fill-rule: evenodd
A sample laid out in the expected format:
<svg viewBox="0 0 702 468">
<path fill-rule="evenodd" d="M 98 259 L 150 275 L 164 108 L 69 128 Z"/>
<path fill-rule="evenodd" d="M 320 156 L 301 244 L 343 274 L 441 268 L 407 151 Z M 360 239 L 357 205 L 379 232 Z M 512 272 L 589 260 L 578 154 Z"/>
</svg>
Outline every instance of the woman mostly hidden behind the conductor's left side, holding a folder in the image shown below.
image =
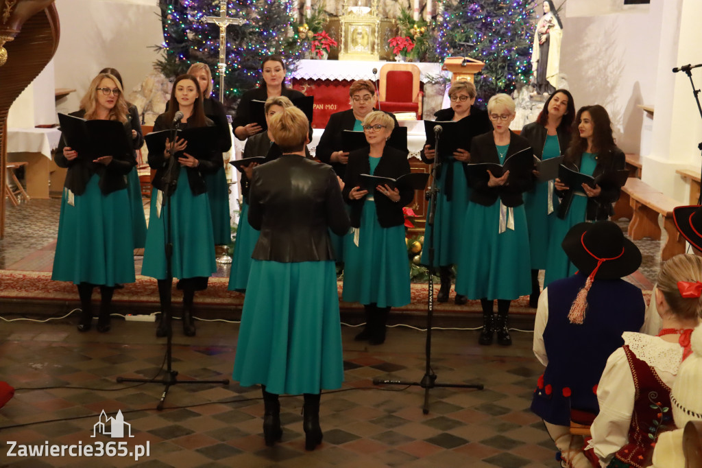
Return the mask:
<svg viewBox="0 0 702 468">
<path fill-rule="evenodd" d="M 291 100 L 285 96 L 268 98 L 265 102 L 266 124 L 270 117 L 282 112 L 284 109 L 293 107 Z M 278 145 L 273 143 L 270 129 L 260 134 L 249 136 L 244 145 L 242 159 L 247 157 L 265 156 L 266 162 L 277 159 L 282 152 Z M 234 253 L 232 254 L 232 268 L 230 268 L 229 286 L 230 291 L 245 292 L 246 283 L 249 282 L 249 271 L 251 270 L 251 253 L 253 247 L 258 242 L 258 230 L 249 224 L 249 186 L 253 168 L 258 166 L 252 162 L 246 167 L 242 167 L 241 173 L 241 212 L 239 213 L 239 226 L 237 226 L 237 239 L 234 242 Z"/>
</svg>

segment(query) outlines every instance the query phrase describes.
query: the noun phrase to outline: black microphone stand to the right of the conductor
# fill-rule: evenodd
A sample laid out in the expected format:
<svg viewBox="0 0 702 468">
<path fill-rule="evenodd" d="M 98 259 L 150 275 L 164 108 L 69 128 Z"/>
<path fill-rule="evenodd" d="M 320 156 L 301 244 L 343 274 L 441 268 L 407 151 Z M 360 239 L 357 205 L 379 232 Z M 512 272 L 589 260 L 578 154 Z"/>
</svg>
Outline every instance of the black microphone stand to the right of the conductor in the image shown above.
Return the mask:
<svg viewBox="0 0 702 468">
<path fill-rule="evenodd" d="M 425 415 L 429 414 L 429 391 L 435 387 L 452 388 L 452 389 L 484 389 L 483 384 L 437 384 L 437 375 L 432 369 L 432 323 L 434 320 L 434 217 L 437 209 L 437 197 L 439 196 L 438 178 L 441 174 L 442 162 L 439 158 L 439 136 L 440 131 L 435 129 L 435 153 L 434 163 L 432 164 L 432 185 L 429 188 L 426 197 L 429 200 L 429 212 L 427 214 L 427 223 L 429 225 L 429 282 L 428 282 L 428 298 L 427 298 L 427 337 L 425 342 L 425 371 L 420 382 L 410 382 L 403 380 L 388 380 L 376 377 L 373 379 L 373 385 L 403 385 L 403 386 L 420 386 L 424 389 L 424 405 L 422 412 Z"/>
</svg>

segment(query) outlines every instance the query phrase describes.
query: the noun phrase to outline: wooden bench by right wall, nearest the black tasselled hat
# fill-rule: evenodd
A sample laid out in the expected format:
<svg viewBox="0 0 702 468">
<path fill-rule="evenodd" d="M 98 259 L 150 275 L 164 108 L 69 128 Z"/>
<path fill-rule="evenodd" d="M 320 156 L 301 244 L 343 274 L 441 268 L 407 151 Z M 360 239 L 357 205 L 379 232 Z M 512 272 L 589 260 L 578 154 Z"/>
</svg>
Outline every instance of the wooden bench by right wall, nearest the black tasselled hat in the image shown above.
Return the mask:
<svg viewBox="0 0 702 468">
<path fill-rule="evenodd" d="M 685 240 L 675 228 L 673 209 L 680 206 L 680 202 L 673 200 L 647 183 L 635 179 L 628 179 L 622 188 L 626 193 L 633 210 L 629 223 L 628 236 L 631 240 L 649 238 L 661 240 L 661 228 L 658 226 L 658 215 L 663 216 L 663 228 L 668 233 L 668 242 L 663 246 L 661 259 L 663 261 L 677 254 L 685 253 Z"/>
</svg>

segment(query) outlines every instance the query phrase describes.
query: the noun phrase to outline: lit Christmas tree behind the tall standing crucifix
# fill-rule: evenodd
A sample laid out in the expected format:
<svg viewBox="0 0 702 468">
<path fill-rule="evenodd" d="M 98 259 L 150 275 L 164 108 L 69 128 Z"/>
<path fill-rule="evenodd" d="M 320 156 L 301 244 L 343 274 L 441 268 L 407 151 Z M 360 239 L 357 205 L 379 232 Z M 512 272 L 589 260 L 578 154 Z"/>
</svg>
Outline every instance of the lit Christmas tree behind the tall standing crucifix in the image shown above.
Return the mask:
<svg viewBox="0 0 702 468">
<path fill-rule="evenodd" d="M 227 0 L 221 0 L 227 1 Z M 241 25 L 227 27 L 227 74 L 225 103 L 234 105 L 244 91 L 260 81 L 261 59 L 279 54 L 288 71 L 295 69 L 303 50 L 293 30 L 296 0 L 229 0 L 227 16 L 244 18 Z M 220 30 L 207 17 L 220 15 L 219 0 L 159 0 L 164 43 L 158 46 L 161 60 L 155 65 L 166 77 L 187 72 L 195 62 L 210 66 L 213 96 L 218 98 Z"/>
</svg>

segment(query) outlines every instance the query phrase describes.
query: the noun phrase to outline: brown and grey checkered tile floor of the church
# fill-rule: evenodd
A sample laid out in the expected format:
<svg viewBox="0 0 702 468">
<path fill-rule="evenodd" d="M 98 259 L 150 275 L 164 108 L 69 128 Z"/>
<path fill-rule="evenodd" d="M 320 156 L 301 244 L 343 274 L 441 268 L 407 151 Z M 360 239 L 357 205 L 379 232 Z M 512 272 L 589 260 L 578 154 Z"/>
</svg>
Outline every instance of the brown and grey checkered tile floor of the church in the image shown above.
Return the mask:
<svg viewBox="0 0 702 468">
<path fill-rule="evenodd" d="M 58 200 L 31 200 L 8 209 L 0 268 L 51 269 Z M 621 223 L 625 229 L 626 223 Z M 649 289 L 658 270 L 659 242 L 637 242 L 644 264 L 635 281 Z M 48 266 L 48 267 L 47 267 Z M 219 272 L 226 276 L 225 271 Z M 1 316 L 1 313 L 0 313 Z M 477 332 L 437 331 L 432 367 L 438 382 L 482 383 L 472 389 L 432 389 L 430 414 L 417 387 L 373 386 L 373 377 L 418 381 L 424 375 L 425 334 L 390 330 L 383 346 L 354 342 L 343 327 L 345 384 L 322 396 L 323 445 L 305 452 L 300 397 L 282 399 L 282 443 L 263 443 L 258 388 L 176 385 L 166 410 L 154 410 L 161 384 L 118 384 L 117 376 L 154 377 L 164 362 L 164 340 L 152 323 L 113 320 L 109 334 L 75 329 L 74 316 L 48 323 L 17 321 L 0 327 L 0 380 L 18 387 L 0 410 L 0 466 L 12 467 L 558 467 L 543 425 L 529 410 L 541 365 L 531 333 L 514 332 L 511 347 L 478 346 Z M 176 323 L 173 368 L 180 379 L 229 378 L 238 325 L 199 322 L 184 338 Z M 161 377 L 157 377 L 160 382 Z M 51 387 L 41 388 L 38 387 Z M 22 444 L 95 444 L 100 411 L 121 410 L 131 424 L 130 450 L 149 443 L 150 455 L 126 457 L 7 457 Z M 72 419 L 77 418 L 77 419 Z M 112 439 L 114 441 L 114 439 Z"/>
</svg>

